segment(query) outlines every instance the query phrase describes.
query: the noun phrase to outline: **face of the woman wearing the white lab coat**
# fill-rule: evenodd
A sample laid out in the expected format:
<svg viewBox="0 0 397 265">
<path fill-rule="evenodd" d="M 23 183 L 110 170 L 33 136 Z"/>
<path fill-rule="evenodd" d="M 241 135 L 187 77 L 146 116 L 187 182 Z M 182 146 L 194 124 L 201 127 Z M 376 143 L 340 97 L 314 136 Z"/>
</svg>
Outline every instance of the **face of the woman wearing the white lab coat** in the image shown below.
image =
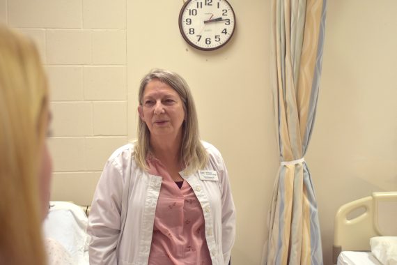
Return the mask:
<svg viewBox="0 0 397 265">
<path fill-rule="evenodd" d="M 168 84 L 156 79 L 148 82 L 138 112 L 148 126 L 150 137 L 176 139 L 182 135 L 185 110 L 180 96 Z"/>
</svg>

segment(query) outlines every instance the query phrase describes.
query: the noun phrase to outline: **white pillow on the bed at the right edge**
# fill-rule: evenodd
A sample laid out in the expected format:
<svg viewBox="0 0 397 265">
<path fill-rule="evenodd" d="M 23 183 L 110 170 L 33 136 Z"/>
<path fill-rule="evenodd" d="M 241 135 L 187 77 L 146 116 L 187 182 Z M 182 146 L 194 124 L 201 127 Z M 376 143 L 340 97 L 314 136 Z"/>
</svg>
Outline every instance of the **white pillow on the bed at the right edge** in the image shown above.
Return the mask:
<svg viewBox="0 0 397 265">
<path fill-rule="evenodd" d="M 397 265 L 397 236 L 375 236 L 369 244 L 372 254 L 383 265 Z"/>
</svg>

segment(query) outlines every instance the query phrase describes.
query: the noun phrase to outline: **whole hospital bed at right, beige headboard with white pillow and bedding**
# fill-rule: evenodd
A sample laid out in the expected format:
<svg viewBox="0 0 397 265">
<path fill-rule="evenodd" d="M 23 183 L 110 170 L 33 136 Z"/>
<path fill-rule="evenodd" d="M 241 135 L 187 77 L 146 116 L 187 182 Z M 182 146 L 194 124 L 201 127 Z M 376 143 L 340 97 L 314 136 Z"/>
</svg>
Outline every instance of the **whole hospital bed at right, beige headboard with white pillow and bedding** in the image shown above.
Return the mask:
<svg viewBox="0 0 397 265">
<path fill-rule="evenodd" d="M 397 264 L 397 192 L 373 192 L 341 206 L 334 224 L 334 264 Z"/>
</svg>

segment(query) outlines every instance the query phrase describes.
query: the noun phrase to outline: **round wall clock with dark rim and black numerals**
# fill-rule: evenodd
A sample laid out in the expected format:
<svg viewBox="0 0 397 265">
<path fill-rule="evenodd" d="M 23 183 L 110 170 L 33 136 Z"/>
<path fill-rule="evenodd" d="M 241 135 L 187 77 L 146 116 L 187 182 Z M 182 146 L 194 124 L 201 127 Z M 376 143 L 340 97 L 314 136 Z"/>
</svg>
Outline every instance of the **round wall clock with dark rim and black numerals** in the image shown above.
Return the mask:
<svg viewBox="0 0 397 265">
<path fill-rule="evenodd" d="M 180 10 L 179 29 L 198 50 L 218 49 L 233 36 L 233 8 L 226 0 L 189 0 Z"/>
</svg>

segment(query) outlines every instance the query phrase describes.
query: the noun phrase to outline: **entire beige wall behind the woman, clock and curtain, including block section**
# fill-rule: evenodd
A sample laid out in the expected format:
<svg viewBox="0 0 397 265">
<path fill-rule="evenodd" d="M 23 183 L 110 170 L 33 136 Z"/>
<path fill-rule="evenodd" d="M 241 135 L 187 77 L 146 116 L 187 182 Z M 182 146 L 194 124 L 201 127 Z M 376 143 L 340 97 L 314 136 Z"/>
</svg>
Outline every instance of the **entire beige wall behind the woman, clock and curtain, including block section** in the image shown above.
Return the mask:
<svg viewBox="0 0 397 265">
<path fill-rule="evenodd" d="M 150 68 L 169 68 L 187 79 L 201 136 L 228 165 L 238 210 L 233 264 L 260 264 L 279 166 L 270 0 L 229 1 L 235 36 L 219 51 L 200 52 L 180 36 L 181 0 L 0 0 L 0 21 L 36 40 L 52 84 L 52 199 L 90 201 L 107 156 L 136 135 L 139 80 Z M 328 1 L 318 113 L 306 155 L 326 265 L 338 206 L 397 190 L 394 10 L 394 0 Z"/>
</svg>

